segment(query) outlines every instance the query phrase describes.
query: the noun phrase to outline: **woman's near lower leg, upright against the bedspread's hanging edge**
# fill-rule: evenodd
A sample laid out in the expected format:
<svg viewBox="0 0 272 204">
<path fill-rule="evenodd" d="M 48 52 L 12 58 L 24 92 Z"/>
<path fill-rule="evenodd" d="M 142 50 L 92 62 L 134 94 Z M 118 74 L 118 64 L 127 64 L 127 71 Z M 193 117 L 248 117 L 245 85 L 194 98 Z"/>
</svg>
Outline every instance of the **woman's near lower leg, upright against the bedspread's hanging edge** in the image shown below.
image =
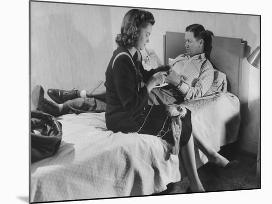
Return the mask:
<svg viewBox="0 0 272 204">
<path fill-rule="evenodd" d="M 191 136 L 186 145 L 181 147 L 181 162 L 190 181 L 193 192 L 205 191 L 198 177 L 195 164 L 194 143 Z"/>
</svg>

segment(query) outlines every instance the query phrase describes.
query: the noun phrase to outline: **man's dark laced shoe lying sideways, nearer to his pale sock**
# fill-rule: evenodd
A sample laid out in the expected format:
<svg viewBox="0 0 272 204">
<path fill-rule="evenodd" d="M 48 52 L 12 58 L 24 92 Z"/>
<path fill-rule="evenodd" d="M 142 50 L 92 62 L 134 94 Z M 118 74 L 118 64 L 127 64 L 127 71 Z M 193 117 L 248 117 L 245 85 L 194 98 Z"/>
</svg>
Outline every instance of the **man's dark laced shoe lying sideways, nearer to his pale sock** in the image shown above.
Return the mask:
<svg viewBox="0 0 272 204">
<path fill-rule="evenodd" d="M 48 96 L 56 103 L 62 104 L 69 100 L 78 98 L 77 90 L 73 89 L 71 91 L 61 90 L 61 89 L 48 89 Z"/>
</svg>

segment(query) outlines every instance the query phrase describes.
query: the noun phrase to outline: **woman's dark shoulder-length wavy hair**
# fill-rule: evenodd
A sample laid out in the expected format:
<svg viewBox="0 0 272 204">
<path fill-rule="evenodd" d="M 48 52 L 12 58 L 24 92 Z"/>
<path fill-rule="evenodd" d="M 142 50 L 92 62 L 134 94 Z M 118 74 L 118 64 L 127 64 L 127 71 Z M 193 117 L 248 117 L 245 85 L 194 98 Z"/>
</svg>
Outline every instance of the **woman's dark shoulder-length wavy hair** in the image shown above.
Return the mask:
<svg viewBox="0 0 272 204">
<path fill-rule="evenodd" d="M 148 23 L 152 26 L 155 23 L 152 13 L 141 9 L 129 10 L 123 18 L 121 34 L 117 34 L 115 38 L 118 46 L 124 46 L 127 48 L 136 46 L 140 30 L 142 28 L 146 28 Z"/>
</svg>

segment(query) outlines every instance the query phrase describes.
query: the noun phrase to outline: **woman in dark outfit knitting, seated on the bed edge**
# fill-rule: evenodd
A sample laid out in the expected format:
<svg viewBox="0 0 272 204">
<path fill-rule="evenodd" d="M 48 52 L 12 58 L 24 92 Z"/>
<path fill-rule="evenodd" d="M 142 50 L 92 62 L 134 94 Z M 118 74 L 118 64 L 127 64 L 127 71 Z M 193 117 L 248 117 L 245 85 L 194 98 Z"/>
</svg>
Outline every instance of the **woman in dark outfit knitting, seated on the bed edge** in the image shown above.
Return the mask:
<svg viewBox="0 0 272 204">
<path fill-rule="evenodd" d="M 164 82 L 167 69 L 160 67 L 143 70 L 139 50 L 149 42 L 153 15 L 144 10 L 132 9 L 124 16 L 121 34 L 116 37 L 118 48 L 106 70 L 106 125 L 108 130 L 123 133 L 158 135 L 163 127 L 167 132 L 170 120 L 164 106 L 148 106 L 148 93 L 156 84 Z M 166 121 L 166 125 L 164 123 Z M 205 191 L 197 174 L 194 144 L 191 136 L 190 111 L 182 121 L 180 155 L 193 192 Z M 173 143 L 172 131 L 162 137 Z"/>
</svg>

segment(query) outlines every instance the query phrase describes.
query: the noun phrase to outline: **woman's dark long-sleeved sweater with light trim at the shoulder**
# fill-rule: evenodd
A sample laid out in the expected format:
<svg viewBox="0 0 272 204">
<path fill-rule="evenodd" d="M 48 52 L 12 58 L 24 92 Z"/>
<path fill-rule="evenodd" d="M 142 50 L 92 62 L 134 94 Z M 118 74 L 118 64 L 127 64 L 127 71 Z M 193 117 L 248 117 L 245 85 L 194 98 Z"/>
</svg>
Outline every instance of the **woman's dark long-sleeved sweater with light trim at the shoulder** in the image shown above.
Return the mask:
<svg viewBox="0 0 272 204">
<path fill-rule="evenodd" d="M 123 133 L 136 132 L 144 118 L 143 111 L 147 106 L 148 92 L 143 82 L 146 82 L 155 70 L 144 70 L 141 56 L 136 52 L 134 58 L 120 55 L 130 52 L 125 47 L 118 47 L 114 52 L 106 70 L 106 125 L 108 130 Z M 115 59 L 114 65 L 112 63 Z"/>
</svg>

